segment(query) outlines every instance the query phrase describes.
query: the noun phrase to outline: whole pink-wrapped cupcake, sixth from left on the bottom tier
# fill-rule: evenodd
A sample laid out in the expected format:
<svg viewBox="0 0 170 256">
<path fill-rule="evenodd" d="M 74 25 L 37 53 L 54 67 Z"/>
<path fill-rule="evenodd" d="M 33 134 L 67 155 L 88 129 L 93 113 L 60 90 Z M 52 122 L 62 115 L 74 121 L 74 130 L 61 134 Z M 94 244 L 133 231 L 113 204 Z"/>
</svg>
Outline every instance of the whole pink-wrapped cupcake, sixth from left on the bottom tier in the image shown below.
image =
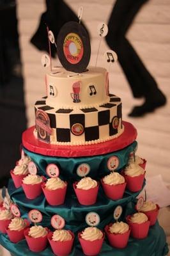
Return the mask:
<svg viewBox="0 0 170 256">
<path fill-rule="evenodd" d="M 111 246 L 116 248 L 125 248 L 130 236 L 130 228 L 128 224 L 121 221 L 111 223 L 105 227 L 105 232 Z"/>
</svg>

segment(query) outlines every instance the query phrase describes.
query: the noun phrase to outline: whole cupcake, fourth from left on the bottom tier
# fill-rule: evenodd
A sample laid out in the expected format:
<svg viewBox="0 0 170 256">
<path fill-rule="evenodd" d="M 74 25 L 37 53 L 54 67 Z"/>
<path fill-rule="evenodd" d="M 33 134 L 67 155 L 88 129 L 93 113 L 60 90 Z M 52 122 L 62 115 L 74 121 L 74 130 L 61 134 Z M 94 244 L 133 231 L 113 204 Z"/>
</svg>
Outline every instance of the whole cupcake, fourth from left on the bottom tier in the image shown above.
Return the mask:
<svg viewBox="0 0 170 256">
<path fill-rule="evenodd" d="M 68 255 L 73 246 L 74 234 L 70 230 L 56 230 L 48 234 L 52 251 L 55 255 Z"/>
</svg>

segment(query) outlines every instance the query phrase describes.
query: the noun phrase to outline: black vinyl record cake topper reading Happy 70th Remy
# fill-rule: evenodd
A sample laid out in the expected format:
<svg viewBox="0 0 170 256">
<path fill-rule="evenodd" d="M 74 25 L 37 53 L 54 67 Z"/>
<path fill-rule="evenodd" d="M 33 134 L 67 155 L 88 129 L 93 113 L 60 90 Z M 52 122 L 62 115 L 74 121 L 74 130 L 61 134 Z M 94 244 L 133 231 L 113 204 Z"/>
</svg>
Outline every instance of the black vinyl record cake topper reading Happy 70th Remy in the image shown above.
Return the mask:
<svg viewBox="0 0 170 256">
<path fill-rule="evenodd" d="M 58 58 L 68 71 L 81 73 L 89 63 L 91 47 L 86 29 L 78 22 L 67 22 L 58 34 Z"/>
</svg>

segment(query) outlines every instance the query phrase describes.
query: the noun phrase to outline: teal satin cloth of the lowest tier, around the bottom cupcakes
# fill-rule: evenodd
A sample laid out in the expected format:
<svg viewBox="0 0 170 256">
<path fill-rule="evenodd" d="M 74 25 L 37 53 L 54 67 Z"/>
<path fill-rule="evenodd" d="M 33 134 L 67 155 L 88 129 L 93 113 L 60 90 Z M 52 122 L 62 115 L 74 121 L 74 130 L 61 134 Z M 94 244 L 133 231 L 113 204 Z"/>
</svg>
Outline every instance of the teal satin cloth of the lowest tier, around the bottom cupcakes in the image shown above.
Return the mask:
<svg viewBox="0 0 170 256">
<path fill-rule="evenodd" d="M 26 240 L 22 240 L 17 244 L 13 244 L 9 241 L 6 234 L 0 234 L 0 243 L 15 256 L 52 256 L 52 250 L 50 245 L 40 253 L 34 253 L 29 250 L 27 247 Z M 112 248 L 107 243 L 107 238 L 105 238 L 104 244 L 102 246 L 99 256 L 165 256 L 167 255 L 168 247 L 166 244 L 166 237 L 164 230 L 156 223 L 153 227 L 150 228 L 148 237 L 145 239 L 133 239 L 130 237 L 128 245 L 124 249 Z M 83 256 L 81 250 L 81 245 L 75 239 L 72 252 L 70 256 Z"/>
</svg>

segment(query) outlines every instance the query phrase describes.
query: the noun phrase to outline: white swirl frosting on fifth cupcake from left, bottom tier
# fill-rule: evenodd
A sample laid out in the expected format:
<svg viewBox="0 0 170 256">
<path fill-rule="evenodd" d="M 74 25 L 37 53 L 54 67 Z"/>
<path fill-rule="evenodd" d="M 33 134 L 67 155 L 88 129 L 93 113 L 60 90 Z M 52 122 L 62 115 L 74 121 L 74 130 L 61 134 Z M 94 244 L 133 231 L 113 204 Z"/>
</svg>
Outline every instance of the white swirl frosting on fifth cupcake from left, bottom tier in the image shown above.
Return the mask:
<svg viewBox="0 0 170 256">
<path fill-rule="evenodd" d="M 95 241 L 97 239 L 102 239 L 103 233 L 97 227 L 88 227 L 82 231 L 81 237 L 84 240 Z"/>
</svg>

